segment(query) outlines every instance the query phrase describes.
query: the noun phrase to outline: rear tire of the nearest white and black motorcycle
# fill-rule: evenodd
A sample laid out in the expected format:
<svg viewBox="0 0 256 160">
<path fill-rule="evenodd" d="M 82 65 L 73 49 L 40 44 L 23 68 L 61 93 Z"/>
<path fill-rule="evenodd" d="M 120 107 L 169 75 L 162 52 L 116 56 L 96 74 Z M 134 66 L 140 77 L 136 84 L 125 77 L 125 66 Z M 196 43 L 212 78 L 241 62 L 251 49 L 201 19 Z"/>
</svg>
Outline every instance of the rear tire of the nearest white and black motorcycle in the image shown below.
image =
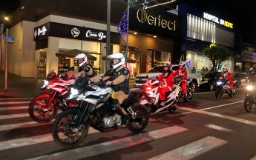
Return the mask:
<svg viewBox="0 0 256 160">
<path fill-rule="evenodd" d="M 148 125 L 149 113 L 148 109 L 142 104 L 135 104 L 131 107 L 134 113 L 137 113 L 138 118 L 145 119 L 144 121 L 131 121 L 131 124 L 128 124 L 128 130 L 131 130 L 133 133 L 140 133 Z M 136 118 L 135 118 L 136 120 Z M 130 123 L 130 122 L 129 122 Z"/>
</svg>

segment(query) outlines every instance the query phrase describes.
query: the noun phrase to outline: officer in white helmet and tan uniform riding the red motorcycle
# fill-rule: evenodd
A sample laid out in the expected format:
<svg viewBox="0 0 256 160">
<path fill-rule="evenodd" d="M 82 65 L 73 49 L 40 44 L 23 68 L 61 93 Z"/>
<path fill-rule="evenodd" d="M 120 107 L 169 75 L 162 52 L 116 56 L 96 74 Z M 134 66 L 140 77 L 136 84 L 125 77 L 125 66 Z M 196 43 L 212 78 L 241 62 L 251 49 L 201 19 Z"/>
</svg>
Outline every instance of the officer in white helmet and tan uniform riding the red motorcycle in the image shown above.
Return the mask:
<svg viewBox="0 0 256 160">
<path fill-rule="evenodd" d="M 93 77 L 93 67 L 91 66 L 91 64 L 88 64 L 88 59 L 85 53 L 79 53 L 73 59 L 77 59 L 77 64 L 79 65 L 79 67 L 74 71 L 68 72 L 68 76 L 74 76 L 75 78 L 77 78 L 80 74 L 82 74 L 82 76 L 85 76 L 86 71 L 89 78 Z"/>
</svg>

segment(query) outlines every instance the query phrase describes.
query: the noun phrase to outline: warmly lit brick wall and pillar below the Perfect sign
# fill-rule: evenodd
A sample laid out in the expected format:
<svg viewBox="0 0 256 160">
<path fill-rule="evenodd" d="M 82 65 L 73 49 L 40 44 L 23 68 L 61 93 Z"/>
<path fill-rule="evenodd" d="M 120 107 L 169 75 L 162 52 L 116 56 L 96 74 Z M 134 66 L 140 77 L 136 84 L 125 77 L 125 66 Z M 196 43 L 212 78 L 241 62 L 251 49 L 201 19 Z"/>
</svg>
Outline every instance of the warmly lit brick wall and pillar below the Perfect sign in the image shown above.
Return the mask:
<svg viewBox="0 0 256 160">
<path fill-rule="evenodd" d="M 125 45 L 125 43 L 122 40 L 121 40 L 121 45 Z M 165 52 L 171 53 L 171 59 L 172 59 L 173 41 L 171 39 L 164 40 L 164 39 L 159 39 L 159 38 L 151 38 L 148 36 L 129 34 L 128 46 L 142 48 L 142 53 L 140 56 L 141 57 L 140 73 L 146 72 L 147 59 L 145 59 L 145 58 L 147 57 L 148 49 L 149 50 L 160 50 L 160 51 L 165 51 Z"/>
</svg>

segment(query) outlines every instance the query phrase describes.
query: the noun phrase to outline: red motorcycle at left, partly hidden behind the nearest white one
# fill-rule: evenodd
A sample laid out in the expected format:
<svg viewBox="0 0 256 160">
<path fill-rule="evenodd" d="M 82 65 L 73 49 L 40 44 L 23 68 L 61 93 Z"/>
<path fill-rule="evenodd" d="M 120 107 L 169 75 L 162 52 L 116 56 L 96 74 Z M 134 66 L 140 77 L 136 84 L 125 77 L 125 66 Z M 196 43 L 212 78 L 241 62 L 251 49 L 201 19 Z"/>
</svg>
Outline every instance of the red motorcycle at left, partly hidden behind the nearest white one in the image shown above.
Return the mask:
<svg viewBox="0 0 256 160">
<path fill-rule="evenodd" d="M 61 78 L 61 74 L 51 70 L 47 78 L 44 80 L 45 84 L 40 90 L 50 90 L 49 93 L 41 93 L 36 96 L 29 105 L 28 113 L 33 121 L 39 123 L 47 123 L 54 119 L 57 115 L 58 108 L 65 110 L 68 107 L 77 106 L 76 102 L 66 103 L 65 99 L 70 95 L 70 86 L 73 85 L 74 79 L 65 77 Z"/>
</svg>

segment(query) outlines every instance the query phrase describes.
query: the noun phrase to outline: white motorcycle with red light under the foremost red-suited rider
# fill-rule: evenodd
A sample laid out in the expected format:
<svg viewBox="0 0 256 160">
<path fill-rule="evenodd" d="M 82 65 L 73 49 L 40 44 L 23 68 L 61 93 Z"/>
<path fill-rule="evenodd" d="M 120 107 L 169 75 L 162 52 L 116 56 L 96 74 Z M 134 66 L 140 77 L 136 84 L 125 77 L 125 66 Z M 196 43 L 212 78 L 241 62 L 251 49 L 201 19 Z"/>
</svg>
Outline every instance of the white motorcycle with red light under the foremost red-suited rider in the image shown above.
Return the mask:
<svg viewBox="0 0 256 160">
<path fill-rule="evenodd" d="M 179 101 L 178 95 L 180 90 L 182 90 L 179 86 L 180 79 L 176 79 L 177 84 L 174 84 L 173 90 L 165 93 L 165 106 L 160 105 L 160 93 L 158 93 L 158 86 L 160 85 L 160 82 L 155 81 L 156 79 L 157 76 L 151 77 L 149 78 L 149 84 L 151 85 L 139 86 L 142 89 L 145 88 L 146 93 L 149 95 L 145 95 L 140 104 L 143 104 L 148 108 L 149 114 L 158 113 L 163 110 L 168 110 L 170 113 L 175 112 L 175 110 L 177 110 L 177 103 Z"/>
</svg>

